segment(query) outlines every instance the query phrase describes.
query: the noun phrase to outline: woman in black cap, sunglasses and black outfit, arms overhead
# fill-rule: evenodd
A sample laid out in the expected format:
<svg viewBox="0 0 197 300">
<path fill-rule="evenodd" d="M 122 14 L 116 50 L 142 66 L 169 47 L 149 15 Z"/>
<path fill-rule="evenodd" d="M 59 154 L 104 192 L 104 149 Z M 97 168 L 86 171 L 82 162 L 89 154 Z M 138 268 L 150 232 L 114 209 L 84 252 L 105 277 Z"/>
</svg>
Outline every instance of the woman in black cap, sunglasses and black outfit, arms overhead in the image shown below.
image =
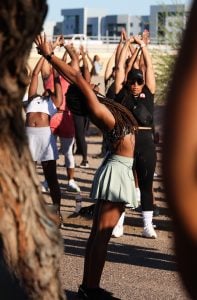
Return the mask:
<svg viewBox="0 0 197 300">
<path fill-rule="evenodd" d="M 146 69 L 143 74 L 142 70 L 132 68 L 127 73 L 127 78 L 125 78 L 125 54 L 129 44 L 133 42 L 131 39 L 127 40 L 116 71 L 116 101 L 127 107 L 138 121 L 139 130 L 136 133 L 134 169 L 137 173 L 141 193 L 144 223 L 142 235 L 148 238 L 156 238 L 157 235 L 152 224 L 153 176 L 156 165 L 156 150 L 153 138 L 155 77 L 151 56 L 146 44 L 138 36 L 134 37 L 134 41 L 140 46 Z M 139 49 L 136 49 L 136 52 L 139 53 Z"/>
</svg>

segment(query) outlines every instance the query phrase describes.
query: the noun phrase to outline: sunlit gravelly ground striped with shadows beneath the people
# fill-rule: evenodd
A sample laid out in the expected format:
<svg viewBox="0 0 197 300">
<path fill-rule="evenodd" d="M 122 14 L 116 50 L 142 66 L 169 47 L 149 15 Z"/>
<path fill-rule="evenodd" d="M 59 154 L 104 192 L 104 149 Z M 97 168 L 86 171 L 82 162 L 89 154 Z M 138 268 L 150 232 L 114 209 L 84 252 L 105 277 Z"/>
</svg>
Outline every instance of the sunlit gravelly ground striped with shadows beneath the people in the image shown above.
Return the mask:
<svg viewBox="0 0 197 300">
<path fill-rule="evenodd" d="M 89 130 L 87 142 L 89 168 L 80 169 L 78 166 L 81 157 L 75 156 L 75 180 L 81 188 L 84 207 L 91 204 L 90 187 L 94 173 L 101 163 L 101 159 L 94 156 L 100 153 L 102 136 L 94 126 Z M 157 147 L 157 168 L 154 178 L 155 201 L 160 209 L 160 215 L 154 217 L 158 238 L 142 238 L 141 213 L 127 208 L 124 235 L 120 238 L 111 238 L 109 243 L 101 286 L 121 300 L 190 299 L 177 271 L 173 226 L 162 185 L 160 146 Z M 64 226 L 60 229 L 64 244 L 60 277 L 67 299 L 72 300 L 77 299 L 76 291 L 82 280 L 85 246 L 92 220 L 73 215 L 78 194 L 68 192 L 66 189 L 66 169 L 62 155 L 57 163 L 62 190 L 61 212 L 64 218 Z M 42 179 L 40 166 L 38 173 Z M 50 203 L 49 195 L 45 195 L 46 201 Z"/>
</svg>

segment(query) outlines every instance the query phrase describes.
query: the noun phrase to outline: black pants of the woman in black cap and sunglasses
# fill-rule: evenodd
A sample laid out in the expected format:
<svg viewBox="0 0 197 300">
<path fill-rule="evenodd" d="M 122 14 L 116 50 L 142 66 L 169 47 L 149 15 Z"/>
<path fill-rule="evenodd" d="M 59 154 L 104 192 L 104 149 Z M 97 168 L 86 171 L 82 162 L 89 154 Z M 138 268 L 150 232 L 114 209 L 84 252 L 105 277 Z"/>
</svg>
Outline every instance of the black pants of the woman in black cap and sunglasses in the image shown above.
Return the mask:
<svg viewBox="0 0 197 300">
<path fill-rule="evenodd" d="M 142 211 L 153 210 L 153 176 L 156 166 L 156 150 L 152 130 L 136 133 L 134 169 L 141 193 Z"/>
</svg>

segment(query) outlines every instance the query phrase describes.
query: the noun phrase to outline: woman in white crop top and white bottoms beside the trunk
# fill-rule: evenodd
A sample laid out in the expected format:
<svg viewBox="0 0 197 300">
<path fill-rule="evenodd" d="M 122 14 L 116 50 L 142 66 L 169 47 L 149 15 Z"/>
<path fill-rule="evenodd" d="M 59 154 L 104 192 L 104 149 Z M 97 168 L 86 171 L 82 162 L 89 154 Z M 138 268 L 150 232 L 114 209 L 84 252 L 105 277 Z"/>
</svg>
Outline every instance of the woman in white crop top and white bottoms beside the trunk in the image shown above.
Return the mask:
<svg viewBox="0 0 197 300">
<path fill-rule="evenodd" d="M 38 95 L 38 75 L 44 60 L 44 57 L 42 57 L 32 72 L 25 126 L 33 161 L 42 164 L 44 176 L 58 216 L 58 225 L 61 225 L 61 192 L 56 173 L 58 150 L 50 129 L 50 118 L 57 112 L 57 108 L 62 103 L 62 89 L 59 75 L 54 70 L 54 92 L 48 90 L 45 95 Z"/>
</svg>

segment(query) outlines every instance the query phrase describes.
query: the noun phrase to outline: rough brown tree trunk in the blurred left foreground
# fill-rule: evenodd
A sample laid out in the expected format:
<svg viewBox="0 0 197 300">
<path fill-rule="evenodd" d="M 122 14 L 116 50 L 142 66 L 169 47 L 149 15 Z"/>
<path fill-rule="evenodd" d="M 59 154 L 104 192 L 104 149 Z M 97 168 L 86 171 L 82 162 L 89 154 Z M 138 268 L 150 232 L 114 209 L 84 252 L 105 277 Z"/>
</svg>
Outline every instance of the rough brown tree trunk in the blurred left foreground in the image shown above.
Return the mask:
<svg viewBox="0 0 197 300">
<path fill-rule="evenodd" d="M 0 0 L 0 298 L 64 299 L 55 216 L 44 202 L 32 162 L 21 99 L 44 0 Z"/>
</svg>

